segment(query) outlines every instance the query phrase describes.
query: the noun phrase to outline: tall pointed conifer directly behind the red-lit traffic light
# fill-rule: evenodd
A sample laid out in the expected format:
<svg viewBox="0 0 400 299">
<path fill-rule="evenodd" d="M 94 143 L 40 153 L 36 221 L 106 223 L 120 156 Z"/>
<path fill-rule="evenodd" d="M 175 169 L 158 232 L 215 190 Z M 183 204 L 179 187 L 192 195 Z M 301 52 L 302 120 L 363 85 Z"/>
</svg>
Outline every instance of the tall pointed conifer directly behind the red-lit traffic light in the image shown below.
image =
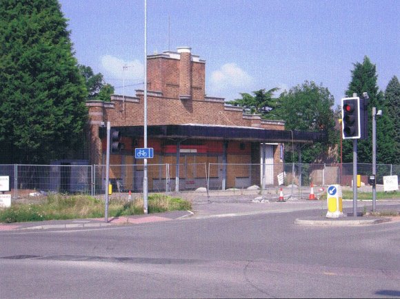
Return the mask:
<svg viewBox="0 0 400 299">
<path fill-rule="evenodd" d="M 372 64 L 368 56 L 363 63 L 354 63 L 352 81 L 346 90 L 346 96 L 356 93 L 361 96 L 368 92 L 368 138 L 358 142 L 357 160 L 359 163 L 372 163 L 372 107 L 383 110 L 381 119 L 377 118 L 377 163 L 390 163 L 394 153 L 394 125 L 388 117 L 383 92 L 377 85 L 376 65 Z M 352 162 L 352 141 L 343 141 L 343 162 Z"/>
</svg>

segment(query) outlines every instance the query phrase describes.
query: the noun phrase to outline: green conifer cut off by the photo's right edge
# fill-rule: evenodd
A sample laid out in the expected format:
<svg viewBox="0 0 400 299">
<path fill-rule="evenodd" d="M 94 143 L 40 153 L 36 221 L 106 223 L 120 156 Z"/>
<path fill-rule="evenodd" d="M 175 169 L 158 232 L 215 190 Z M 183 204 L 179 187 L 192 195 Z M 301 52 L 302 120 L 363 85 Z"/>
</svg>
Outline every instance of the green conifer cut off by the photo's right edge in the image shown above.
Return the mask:
<svg viewBox="0 0 400 299">
<path fill-rule="evenodd" d="M 386 87 L 385 103 L 388 116 L 392 120 L 392 127 L 394 129 L 394 134 L 392 135 L 394 138 L 394 156 L 390 163 L 400 164 L 400 83 L 397 76 L 393 76 Z"/>
</svg>

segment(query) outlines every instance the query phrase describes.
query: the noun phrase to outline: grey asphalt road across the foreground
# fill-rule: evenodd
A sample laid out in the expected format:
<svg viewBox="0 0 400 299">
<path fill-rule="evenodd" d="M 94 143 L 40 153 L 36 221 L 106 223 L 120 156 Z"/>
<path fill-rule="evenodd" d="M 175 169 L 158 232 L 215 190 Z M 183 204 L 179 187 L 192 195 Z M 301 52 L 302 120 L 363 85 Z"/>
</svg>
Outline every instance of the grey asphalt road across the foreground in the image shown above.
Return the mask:
<svg viewBox="0 0 400 299">
<path fill-rule="evenodd" d="M 0 298 L 399 298 L 400 222 L 320 210 L 0 234 Z"/>
</svg>

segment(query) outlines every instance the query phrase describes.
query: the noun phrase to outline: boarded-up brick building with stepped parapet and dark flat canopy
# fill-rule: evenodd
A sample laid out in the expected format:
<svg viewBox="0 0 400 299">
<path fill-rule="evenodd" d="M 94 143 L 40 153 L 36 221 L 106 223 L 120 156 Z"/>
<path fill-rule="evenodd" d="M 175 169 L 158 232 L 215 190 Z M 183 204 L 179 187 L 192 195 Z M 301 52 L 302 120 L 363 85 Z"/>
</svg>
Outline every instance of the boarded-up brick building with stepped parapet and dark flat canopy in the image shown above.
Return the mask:
<svg viewBox="0 0 400 299">
<path fill-rule="evenodd" d="M 316 133 L 286 131 L 284 121 L 266 121 L 259 115 L 243 114 L 241 107 L 206 96 L 206 61 L 193 55 L 190 48 L 150 55 L 147 63 L 148 147 L 154 148 L 154 158 L 148 159 L 148 164 L 174 165 L 171 184 L 176 190 L 204 187 L 198 183 L 204 172 L 188 167 L 199 163 L 221 165 L 210 169 L 210 187 L 212 181 L 223 181 L 223 189 L 261 185 L 263 173 L 267 185 L 277 184 L 277 174 L 283 171 L 281 143 L 311 143 L 321 138 Z M 143 147 L 143 94 L 143 90 L 137 90 L 136 96 L 114 94 L 110 102 L 88 101 L 91 164 L 105 164 L 106 129 L 101 123 L 107 121 L 121 133 L 123 144 L 120 152 L 111 154 L 110 164 L 143 163 L 135 161 L 133 154 L 134 147 Z M 234 164 L 254 166 L 243 170 Z M 134 190 L 140 189 L 141 184 L 135 185 L 135 180 L 141 176 L 140 166 L 134 166 L 128 175 L 123 169 L 110 173 L 111 179 Z M 149 189 L 155 189 L 166 179 L 163 170 L 150 172 Z M 185 182 L 190 182 L 190 186 Z"/>
</svg>

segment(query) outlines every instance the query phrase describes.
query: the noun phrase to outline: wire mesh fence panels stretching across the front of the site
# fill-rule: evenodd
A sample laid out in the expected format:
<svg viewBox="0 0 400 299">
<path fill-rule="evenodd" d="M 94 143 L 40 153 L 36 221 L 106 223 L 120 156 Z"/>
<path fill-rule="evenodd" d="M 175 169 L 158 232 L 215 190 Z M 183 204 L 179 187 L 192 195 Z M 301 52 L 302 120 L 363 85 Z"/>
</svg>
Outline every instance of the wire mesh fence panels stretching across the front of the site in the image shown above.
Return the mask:
<svg viewBox="0 0 400 299">
<path fill-rule="evenodd" d="M 343 164 L 234 164 L 181 163 L 150 164 L 148 192 L 225 192 L 225 194 L 259 194 L 277 196 L 280 187 L 291 195 L 299 189 L 339 184 L 352 186 L 352 163 Z M 361 184 L 368 185 L 372 164 L 357 165 Z M 113 192 L 143 192 L 143 164 L 110 165 Z M 377 184 L 383 176 L 399 175 L 400 165 L 377 165 Z M 12 198 L 41 196 L 49 192 L 62 194 L 103 195 L 106 188 L 105 165 L 0 165 L 0 176 L 9 176 Z M 230 192 L 230 193 L 229 193 Z"/>
</svg>

